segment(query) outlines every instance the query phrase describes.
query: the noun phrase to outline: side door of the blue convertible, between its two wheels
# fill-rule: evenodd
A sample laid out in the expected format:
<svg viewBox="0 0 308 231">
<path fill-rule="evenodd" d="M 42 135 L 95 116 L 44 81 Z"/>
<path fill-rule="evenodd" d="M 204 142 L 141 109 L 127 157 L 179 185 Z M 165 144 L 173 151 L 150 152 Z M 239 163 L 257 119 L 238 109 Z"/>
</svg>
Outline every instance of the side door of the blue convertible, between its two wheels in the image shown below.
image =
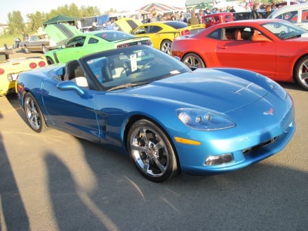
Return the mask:
<svg viewBox="0 0 308 231">
<path fill-rule="evenodd" d="M 60 90 L 61 81 L 49 78 L 42 83 L 42 100 L 47 111 L 47 120 L 57 129 L 89 141 L 99 141 L 99 125 L 95 113 L 96 90 L 81 88 L 84 95 L 76 90 Z"/>
</svg>

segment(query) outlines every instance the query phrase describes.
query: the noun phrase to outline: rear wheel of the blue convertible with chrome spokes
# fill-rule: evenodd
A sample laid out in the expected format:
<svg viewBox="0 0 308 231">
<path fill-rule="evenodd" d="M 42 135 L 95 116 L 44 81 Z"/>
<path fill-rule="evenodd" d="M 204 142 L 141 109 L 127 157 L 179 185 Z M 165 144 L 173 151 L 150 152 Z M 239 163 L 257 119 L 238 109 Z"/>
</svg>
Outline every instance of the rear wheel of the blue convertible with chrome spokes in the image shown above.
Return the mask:
<svg viewBox="0 0 308 231">
<path fill-rule="evenodd" d="M 24 111 L 29 126 L 32 130 L 34 130 L 34 132 L 40 133 L 47 130 L 47 125 L 44 121 L 44 117 L 42 116 L 40 106 L 38 106 L 38 102 L 31 93 L 27 93 L 25 95 Z"/>
</svg>

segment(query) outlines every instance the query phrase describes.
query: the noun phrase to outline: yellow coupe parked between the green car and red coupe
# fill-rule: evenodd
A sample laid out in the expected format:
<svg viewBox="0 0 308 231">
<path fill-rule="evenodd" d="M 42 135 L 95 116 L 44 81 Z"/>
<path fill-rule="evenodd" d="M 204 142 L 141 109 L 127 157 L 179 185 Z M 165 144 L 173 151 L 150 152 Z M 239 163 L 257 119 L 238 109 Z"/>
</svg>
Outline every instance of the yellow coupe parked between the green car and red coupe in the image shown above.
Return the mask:
<svg viewBox="0 0 308 231">
<path fill-rule="evenodd" d="M 179 21 L 158 21 L 144 23 L 133 29 L 131 34 L 151 38 L 153 47 L 170 54 L 171 43 L 175 38 L 195 34 L 203 29 L 205 29 L 204 24 L 189 26 L 187 23 Z"/>
</svg>

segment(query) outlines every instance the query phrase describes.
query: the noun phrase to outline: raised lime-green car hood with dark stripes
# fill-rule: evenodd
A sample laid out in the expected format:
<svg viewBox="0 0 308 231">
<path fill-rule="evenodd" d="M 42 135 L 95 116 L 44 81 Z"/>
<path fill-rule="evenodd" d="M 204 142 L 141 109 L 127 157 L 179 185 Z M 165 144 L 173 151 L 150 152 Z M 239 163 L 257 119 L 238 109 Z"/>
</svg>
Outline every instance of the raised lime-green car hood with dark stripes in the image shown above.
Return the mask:
<svg viewBox="0 0 308 231">
<path fill-rule="evenodd" d="M 44 32 L 46 32 L 49 38 L 51 38 L 59 47 L 62 46 L 68 38 L 71 38 L 76 34 L 82 34 L 82 32 L 76 27 L 64 23 L 47 25 Z"/>
</svg>

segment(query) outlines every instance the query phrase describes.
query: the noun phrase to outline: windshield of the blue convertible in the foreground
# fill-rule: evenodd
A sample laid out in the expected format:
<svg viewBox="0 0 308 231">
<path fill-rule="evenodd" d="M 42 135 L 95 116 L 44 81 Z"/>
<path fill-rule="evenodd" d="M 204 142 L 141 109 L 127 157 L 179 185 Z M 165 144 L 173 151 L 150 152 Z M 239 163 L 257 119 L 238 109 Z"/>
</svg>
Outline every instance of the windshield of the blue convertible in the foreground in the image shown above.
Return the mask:
<svg viewBox="0 0 308 231">
<path fill-rule="evenodd" d="M 82 60 L 104 90 L 131 88 L 191 71 L 176 58 L 147 45 L 95 53 Z"/>
</svg>

